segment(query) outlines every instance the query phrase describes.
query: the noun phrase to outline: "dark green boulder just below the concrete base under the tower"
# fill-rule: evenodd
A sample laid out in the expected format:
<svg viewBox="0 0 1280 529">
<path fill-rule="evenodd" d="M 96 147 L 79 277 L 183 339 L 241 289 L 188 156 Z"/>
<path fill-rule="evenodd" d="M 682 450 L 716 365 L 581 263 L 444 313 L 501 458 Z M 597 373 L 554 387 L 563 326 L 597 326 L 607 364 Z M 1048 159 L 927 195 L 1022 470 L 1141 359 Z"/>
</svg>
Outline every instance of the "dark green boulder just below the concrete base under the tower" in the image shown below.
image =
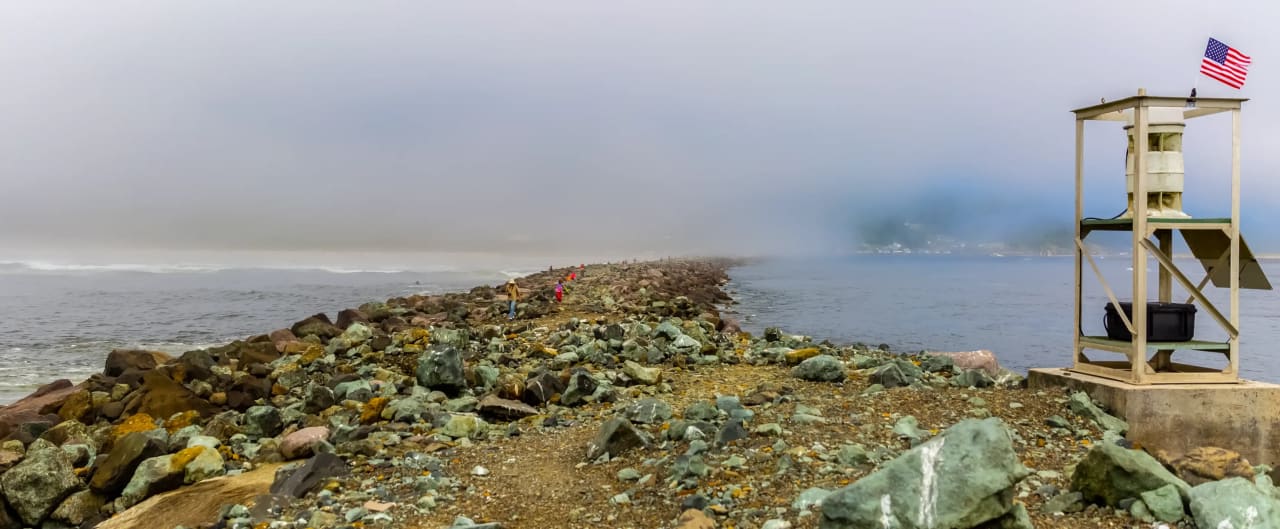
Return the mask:
<svg viewBox="0 0 1280 529">
<path fill-rule="evenodd" d="M 1071 489 L 1084 494 L 1084 501 L 1116 506 L 1120 500 L 1137 498 L 1143 492 L 1174 485 L 1181 498 L 1190 487 L 1178 479 L 1140 450 L 1112 443 L 1097 443 L 1084 455 L 1071 474 Z"/>
</svg>

